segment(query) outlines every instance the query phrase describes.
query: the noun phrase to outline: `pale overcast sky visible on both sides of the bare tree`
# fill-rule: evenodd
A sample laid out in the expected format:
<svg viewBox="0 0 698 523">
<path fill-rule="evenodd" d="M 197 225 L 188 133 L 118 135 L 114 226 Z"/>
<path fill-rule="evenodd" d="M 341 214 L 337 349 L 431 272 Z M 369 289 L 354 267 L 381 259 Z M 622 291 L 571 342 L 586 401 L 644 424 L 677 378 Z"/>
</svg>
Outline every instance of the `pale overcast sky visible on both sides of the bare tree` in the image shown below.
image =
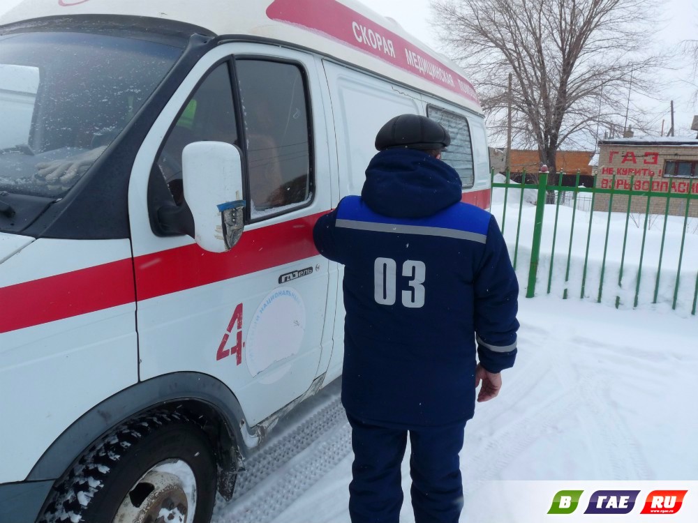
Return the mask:
<svg viewBox="0 0 698 523">
<path fill-rule="evenodd" d="M 448 54 L 447 49 L 443 49 L 431 29 L 429 18 L 429 0 L 359 0 L 373 10 L 384 16 L 392 17 L 396 22 L 409 33 L 422 40 L 434 49 Z M 665 48 L 676 50 L 681 45 L 681 40 L 698 38 L 698 1 L 696 0 L 659 0 L 664 11 L 664 21 L 656 24 L 657 33 L 654 35 L 658 50 Z M 634 16 L 628 15 L 628 23 L 633 23 Z M 667 91 L 657 93 L 658 100 L 641 100 L 639 97 L 631 95 L 631 103 L 642 107 L 651 121 L 655 123 L 656 135 L 662 129 L 662 119 L 664 119 L 664 132 L 669 130 L 670 123 L 670 101 L 674 100 L 674 125 L 677 135 L 687 135 L 695 137 L 695 132 L 690 130 L 694 114 L 698 114 L 698 107 L 691 100 L 692 91 L 681 82 L 682 78 L 690 79 L 691 69 L 686 67 L 676 72 L 667 72 L 667 75 L 676 75 L 677 82 Z M 466 70 L 466 77 L 468 71 Z M 476 86 L 477 87 L 477 86 Z"/>
</svg>

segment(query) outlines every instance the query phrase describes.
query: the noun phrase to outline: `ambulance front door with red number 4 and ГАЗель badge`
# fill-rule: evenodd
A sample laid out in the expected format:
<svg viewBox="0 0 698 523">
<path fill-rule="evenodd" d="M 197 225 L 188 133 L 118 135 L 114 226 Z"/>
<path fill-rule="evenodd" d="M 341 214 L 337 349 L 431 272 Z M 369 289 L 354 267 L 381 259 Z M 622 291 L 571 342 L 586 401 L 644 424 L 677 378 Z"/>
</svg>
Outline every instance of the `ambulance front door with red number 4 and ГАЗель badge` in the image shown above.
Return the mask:
<svg viewBox="0 0 698 523">
<path fill-rule="evenodd" d="M 140 379 L 194 371 L 237 396 L 255 425 L 301 396 L 319 368 L 328 262 L 312 227 L 329 210 L 319 79 L 310 54 L 255 44 L 210 52 L 151 128 L 133 167 L 129 209 Z M 315 96 L 317 95 L 317 96 Z M 242 150 L 246 225 L 229 252 L 158 236 L 154 193 L 181 205 L 181 151 L 214 140 Z M 202 182 L 205 183 L 205 182 Z"/>
</svg>

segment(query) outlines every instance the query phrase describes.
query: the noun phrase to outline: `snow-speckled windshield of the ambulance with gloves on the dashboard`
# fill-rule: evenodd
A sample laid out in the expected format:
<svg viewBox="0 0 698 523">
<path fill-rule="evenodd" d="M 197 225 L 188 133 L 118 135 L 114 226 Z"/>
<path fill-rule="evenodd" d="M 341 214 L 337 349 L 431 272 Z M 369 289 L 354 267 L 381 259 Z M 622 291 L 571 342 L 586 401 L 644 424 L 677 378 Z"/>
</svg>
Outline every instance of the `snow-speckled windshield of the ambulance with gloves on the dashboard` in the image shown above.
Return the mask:
<svg viewBox="0 0 698 523">
<path fill-rule="evenodd" d="M 181 52 L 91 33 L 0 36 L 0 195 L 65 195 Z"/>
</svg>

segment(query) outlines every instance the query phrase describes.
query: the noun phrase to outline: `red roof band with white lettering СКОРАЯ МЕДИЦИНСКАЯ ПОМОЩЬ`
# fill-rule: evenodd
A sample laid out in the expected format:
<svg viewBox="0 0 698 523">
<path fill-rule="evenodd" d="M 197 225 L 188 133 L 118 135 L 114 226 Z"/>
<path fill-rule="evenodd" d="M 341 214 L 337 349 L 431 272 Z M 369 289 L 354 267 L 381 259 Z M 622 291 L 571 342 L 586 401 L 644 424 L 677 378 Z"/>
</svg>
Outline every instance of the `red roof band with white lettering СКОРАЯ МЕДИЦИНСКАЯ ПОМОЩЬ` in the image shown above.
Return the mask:
<svg viewBox="0 0 698 523">
<path fill-rule="evenodd" d="M 267 8 L 267 16 L 325 33 L 334 40 L 378 56 L 393 66 L 479 103 L 473 84 L 467 79 L 401 36 L 335 0 L 274 0 Z"/>
</svg>

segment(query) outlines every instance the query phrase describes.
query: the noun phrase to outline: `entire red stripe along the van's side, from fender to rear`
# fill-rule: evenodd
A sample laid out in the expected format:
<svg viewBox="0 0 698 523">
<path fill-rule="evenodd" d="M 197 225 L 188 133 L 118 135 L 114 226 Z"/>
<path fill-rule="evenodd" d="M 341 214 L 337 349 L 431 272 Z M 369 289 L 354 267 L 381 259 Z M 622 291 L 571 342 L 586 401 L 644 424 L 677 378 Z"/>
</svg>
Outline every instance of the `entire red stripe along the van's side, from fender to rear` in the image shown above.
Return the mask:
<svg viewBox="0 0 698 523">
<path fill-rule="evenodd" d="M 462 201 L 486 209 L 489 198 L 489 190 L 480 190 L 463 192 Z M 235 248 L 224 253 L 206 252 L 194 244 L 136 257 L 138 300 L 318 255 L 313 225 L 325 212 L 246 231 Z M 0 287 L 0 333 L 133 303 L 133 266 L 131 259 L 122 259 Z"/>
</svg>

